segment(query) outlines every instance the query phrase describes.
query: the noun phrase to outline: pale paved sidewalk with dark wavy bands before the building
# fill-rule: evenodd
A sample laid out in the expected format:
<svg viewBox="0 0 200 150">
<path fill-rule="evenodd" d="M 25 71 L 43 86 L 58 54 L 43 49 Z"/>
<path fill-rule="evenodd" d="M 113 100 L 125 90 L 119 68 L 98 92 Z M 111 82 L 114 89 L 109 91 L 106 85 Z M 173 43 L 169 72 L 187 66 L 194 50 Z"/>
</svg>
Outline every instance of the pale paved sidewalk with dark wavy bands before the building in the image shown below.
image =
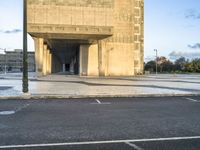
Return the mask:
<svg viewBox="0 0 200 150">
<path fill-rule="evenodd" d="M 79 77 L 31 74 L 30 96 L 24 96 L 19 74 L 0 75 L 0 98 L 82 98 L 200 95 L 200 74 L 137 77 Z"/>
</svg>

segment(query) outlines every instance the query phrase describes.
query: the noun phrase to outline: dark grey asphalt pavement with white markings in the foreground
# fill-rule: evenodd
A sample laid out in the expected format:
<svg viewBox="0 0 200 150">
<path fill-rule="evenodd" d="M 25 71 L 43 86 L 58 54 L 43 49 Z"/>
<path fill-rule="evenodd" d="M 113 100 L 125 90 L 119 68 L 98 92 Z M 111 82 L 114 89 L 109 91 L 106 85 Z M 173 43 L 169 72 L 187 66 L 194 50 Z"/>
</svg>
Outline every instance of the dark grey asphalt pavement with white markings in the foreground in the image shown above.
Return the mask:
<svg viewBox="0 0 200 150">
<path fill-rule="evenodd" d="M 200 97 L 0 100 L 0 149 L 199 150 Z"/>
</svg>

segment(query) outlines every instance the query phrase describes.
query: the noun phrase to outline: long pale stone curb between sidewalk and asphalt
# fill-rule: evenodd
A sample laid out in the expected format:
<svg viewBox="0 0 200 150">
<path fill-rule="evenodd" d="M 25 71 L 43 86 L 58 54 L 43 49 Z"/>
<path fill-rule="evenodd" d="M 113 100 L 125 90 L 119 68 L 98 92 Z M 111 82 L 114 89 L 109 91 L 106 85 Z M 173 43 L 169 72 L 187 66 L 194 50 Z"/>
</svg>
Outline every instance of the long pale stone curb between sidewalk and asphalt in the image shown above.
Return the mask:
<svg viewBox="0 0 200 150">
<path fill-rule="evenodd" d="M 39 95 L 22 94 L 19 96 L 0 96 L 0 100 L 39 100 L 39 99 L 81 99 L 81 98 L 139 98 L 139 97 L 184 97 L 200 94 L 132 94 L 132 95 Z"/>
</svg>

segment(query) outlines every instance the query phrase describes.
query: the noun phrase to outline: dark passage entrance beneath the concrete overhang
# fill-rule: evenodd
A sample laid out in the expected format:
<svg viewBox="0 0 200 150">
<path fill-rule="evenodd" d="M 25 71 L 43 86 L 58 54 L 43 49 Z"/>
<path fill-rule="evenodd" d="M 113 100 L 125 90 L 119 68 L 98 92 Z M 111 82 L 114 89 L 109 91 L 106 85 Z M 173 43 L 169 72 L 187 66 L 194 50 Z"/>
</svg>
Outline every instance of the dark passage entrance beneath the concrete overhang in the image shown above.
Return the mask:
<svg viewBox="0 0 200 150">
<path fill-rule="evenodd" d="M 79 74 L 80 43 L 75 40 L 51 40 L 49 42 L 53 56 L 52 73 Z"/>
</svg>

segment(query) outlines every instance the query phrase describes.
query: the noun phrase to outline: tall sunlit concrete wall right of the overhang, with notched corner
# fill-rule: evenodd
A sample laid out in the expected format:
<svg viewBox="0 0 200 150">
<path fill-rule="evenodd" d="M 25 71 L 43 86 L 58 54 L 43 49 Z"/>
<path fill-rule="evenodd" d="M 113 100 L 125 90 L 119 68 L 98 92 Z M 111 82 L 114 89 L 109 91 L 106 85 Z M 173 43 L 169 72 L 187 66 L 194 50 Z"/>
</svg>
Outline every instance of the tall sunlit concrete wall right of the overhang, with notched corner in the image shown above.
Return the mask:
<svg viewBox="0 0 200 150">
<path fill-rule="evenodd" d="M 142 73 L 143 0 L 116 0 L 114 16 L 114 34 L 106 40 L 107 75 Z"/>
</svg>

